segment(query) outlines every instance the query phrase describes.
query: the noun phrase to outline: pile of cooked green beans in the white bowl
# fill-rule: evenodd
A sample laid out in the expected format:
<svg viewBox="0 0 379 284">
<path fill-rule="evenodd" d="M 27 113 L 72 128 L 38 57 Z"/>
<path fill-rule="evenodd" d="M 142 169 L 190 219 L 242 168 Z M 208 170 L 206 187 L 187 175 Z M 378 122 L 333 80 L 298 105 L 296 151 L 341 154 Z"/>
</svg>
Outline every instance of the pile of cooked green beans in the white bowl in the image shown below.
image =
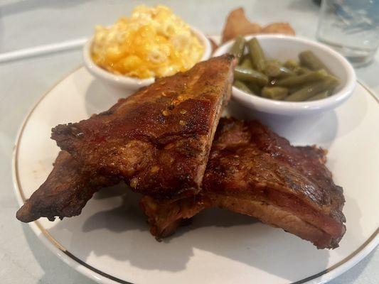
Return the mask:
<svg viewBox="0 0 379 284">
<path fill-rule="evenodd" d="M 247 53 L 245 54 L 245 50 Z M 340 80 L 310 50 L 299 54 L 299 61 L 268 59 L 257 38 L 235 38 L 229 53 L 238 65 L 234 86 L 248 94 L 289 102 L 314 101 L 333 94 Z"/>
</svg>

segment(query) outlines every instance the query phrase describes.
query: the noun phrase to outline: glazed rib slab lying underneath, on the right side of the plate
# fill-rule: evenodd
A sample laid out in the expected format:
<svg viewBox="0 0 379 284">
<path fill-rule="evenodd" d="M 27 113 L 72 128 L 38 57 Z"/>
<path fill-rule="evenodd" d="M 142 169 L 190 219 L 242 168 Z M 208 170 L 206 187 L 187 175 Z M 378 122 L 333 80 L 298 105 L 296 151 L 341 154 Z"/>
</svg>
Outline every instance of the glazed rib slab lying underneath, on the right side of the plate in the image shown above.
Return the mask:
<svg viewBox="0 0 379 284">
<path fill-rule="evenodd" d="M 294 147 L 258 121 L 222 119 L 203 190 L 196 198 L 154 200 L 141 206 L 158 238 L 207 207 L 247 214 L 311 241 L 336 248 L 345 232 L 342 188 L 324 165 L 326 152 Z"/>
</svg>

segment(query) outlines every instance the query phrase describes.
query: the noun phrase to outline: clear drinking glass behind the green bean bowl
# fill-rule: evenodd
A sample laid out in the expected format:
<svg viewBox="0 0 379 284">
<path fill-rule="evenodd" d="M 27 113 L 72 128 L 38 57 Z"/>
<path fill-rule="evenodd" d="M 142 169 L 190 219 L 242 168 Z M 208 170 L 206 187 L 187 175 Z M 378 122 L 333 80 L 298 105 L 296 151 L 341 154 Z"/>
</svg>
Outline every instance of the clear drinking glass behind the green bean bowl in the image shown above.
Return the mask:
<svg viewBox="0 0 379 284">
<path fill-rule="evenodd" d="M 379 0 L 323 0 L 316 37 L 353 66 L 368 65 L 379 46 Z"/>
</svg>

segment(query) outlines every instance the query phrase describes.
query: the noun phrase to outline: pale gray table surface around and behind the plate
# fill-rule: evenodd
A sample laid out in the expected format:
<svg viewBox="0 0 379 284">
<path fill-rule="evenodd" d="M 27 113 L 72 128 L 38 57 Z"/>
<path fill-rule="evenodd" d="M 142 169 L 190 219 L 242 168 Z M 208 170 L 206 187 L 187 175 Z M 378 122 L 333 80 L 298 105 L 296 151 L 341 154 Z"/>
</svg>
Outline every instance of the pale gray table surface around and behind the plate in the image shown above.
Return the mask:
<svg viewBox="0 0 379 284">
<path fill-rule="evenodd" d="M 95 24 L 110 24 L 141 1 L 1 0 L 0 53 L 91 35 Z M 230 9 L 243 6 L 258 23 L 289 21 L 298 35 L 314 38 L 319 7 L 310 0 L 292 1 L 144 1 L 163 3 L 193 26 L 220 34 Z M 15 219 L 11 158 L 16 134 L 31 106 L 57 80 L 82 65 L 79 49 L 0 63 L 0 283 L 94 283 L 50 253 L 27 224 Z M 379 55 L 356 70 L 358 79 L 379 94 Z M 32 150 L 32 149 L 31 149 Z M 331 284 L 379 283 L 375 249 Z"/>
</svg>

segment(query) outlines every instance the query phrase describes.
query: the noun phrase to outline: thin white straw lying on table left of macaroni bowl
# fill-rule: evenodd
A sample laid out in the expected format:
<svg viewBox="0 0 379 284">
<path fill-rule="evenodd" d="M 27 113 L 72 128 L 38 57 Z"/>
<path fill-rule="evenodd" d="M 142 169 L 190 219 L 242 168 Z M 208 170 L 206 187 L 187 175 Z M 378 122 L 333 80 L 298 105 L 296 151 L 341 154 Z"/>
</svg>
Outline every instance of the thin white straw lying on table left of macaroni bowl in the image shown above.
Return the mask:
<svg viewBox="0 0 379 284">
<path fill-rule="evenodd" d="M 25 48 L 21 50 L 11 51 L 9 53 L 0 53 L 0 63 L 11 60 L 20 60 L 23 58 L 31 58 L 37 55 L 47 53 L 56 53 L 58 51 L 80 48 L 85 44 L 87 38 L 78 38 L 75 40 L 67 40 L 62 43 L 52 43 L 49 45 L 40 45 L 34 48 Z"/>
</svg>

